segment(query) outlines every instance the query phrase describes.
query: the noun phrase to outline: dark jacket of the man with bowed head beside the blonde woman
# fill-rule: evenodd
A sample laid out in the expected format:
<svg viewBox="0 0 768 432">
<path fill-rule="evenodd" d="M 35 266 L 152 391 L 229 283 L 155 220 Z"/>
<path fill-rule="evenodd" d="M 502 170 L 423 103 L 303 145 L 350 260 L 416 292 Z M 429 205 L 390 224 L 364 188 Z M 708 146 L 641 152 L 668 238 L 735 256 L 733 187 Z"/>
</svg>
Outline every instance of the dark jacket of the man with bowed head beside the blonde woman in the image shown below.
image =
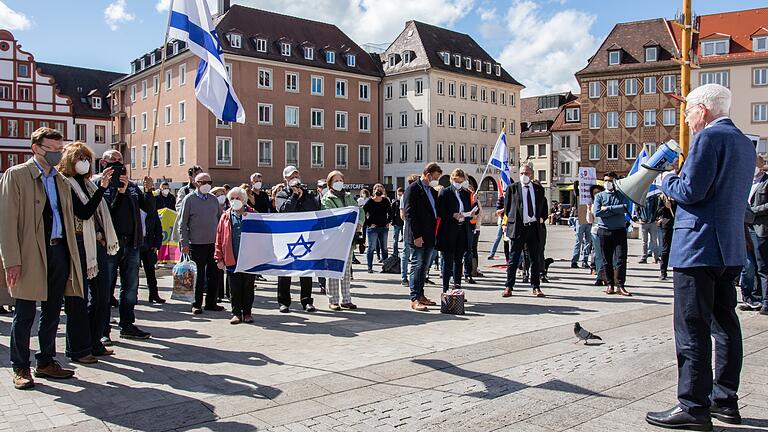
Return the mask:
<svg viewBox="0 0 768 432">
<path fill-rule="evenodd" d="M 431 187 L 427 190 L 437 204 L 437 192 Z M 434 247 L 437 219 L 421 179 L 408 185 L 403 199 L 405 199 L 405 241 L 414 244 L 414 240 L 421 238 L 424 246 Z"/>
</svg>

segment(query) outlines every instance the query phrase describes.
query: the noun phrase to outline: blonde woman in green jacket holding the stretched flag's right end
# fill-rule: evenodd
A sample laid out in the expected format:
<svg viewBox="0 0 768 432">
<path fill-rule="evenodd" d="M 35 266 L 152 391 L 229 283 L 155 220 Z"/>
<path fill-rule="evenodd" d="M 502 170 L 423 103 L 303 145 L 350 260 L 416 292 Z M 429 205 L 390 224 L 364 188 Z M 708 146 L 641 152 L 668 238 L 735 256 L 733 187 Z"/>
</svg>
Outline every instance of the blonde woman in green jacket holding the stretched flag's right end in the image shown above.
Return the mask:
<svg viewBox="0 0 768 432">
<path fill-rule="evenodd" d="M 355 197 L 344 190 L 344 174 L 341 171 L 331 171 L 326 178 L 326 184 L 329 186 L 329 189 L 328 193 L 320 201 L 322 209 L 357 206 Z M 363 229 L 363 221 L 365 221 L 365 214 L 360 210 L 357 215 L 357 231 Z M 357 306 L 352 303 L 352 294 L 349 289 L 351 280 L 352 248 L 349 250 L 349 259 L 347 260 L 347 268 L 344 270 L 344 278 L 328 279 L 327 295 L 329 309 L 333 311 L 357 309 Z"/>
</svg>

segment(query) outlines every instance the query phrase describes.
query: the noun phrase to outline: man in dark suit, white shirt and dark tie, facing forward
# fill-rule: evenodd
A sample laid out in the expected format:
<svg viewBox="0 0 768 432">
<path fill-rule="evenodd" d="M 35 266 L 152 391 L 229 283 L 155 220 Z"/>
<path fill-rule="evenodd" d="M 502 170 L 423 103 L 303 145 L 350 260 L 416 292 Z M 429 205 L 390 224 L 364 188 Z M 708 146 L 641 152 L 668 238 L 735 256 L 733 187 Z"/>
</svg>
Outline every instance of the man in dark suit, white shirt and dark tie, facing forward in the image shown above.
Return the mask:
<svg viewBox="0 0 768 432">
<path fill-rule="evenodd" d="M 502 297 L 510 297 L 515 288 L 515 276 L 523 247 L 528 248 L 531 257 L 531 286 L 533 295 L 544 297 L 539 287 L 541 273 L 540 248 L 541 225 L 547 220 L 549 207 L 544 197 L 544 188 L 533 182 L 533 168 L 529 165 L 520 167 L 520 183 L 513 183 L 504 193 L 504 213 L 507 215 L 507 237 L 512 241 L 507 283 Z"/>
</svg>

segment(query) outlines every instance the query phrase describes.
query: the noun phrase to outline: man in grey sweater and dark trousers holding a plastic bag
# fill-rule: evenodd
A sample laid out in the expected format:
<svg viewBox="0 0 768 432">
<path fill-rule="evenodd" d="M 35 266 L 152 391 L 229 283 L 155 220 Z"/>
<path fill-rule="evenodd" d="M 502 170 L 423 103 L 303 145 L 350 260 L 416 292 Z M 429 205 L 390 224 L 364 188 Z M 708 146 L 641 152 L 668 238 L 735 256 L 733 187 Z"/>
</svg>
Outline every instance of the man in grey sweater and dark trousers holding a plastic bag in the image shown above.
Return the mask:
<svg viewBox="0 0 768 432">
<path fill-rule="evenodd" d="M 197 188 L 184 197 L 179 214 L 179 246 L 181 253 L 189 254 L 197 265 L 195 301 L 192 313 L 199 315 L 207 311 L 223 311 L 217 304 L 219 271 L 213 259 L 216 243 L 216 226 L 221 217 L 219 201 L 211 193 L 211 176 L 200 173 L 195 177 Z M 205 306 L 203 306 L 205 293 Z"/>
</svg>

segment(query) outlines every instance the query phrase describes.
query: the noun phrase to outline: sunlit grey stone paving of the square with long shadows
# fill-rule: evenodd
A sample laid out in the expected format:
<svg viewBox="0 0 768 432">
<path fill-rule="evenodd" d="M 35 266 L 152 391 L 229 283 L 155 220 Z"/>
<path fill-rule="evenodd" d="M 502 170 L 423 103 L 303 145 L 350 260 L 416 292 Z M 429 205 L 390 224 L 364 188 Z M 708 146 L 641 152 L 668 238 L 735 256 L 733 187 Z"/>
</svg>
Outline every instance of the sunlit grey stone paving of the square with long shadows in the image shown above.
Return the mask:
<svg viewBox="0 0 768 432">
<path fill-rule="evenodd" d="M 484 227 L 481 251 L 494 233 Z M 501 298 L 503 271 L 489 267 L 500 261 L 482 254 L 485 277 L 469 287 L 464 316 L 411 312 L 398 275 L 364 266 L 355 267 L 354 312 L 328 311 L 318 294 L 317 313 L 297 302 L 280 314 L 274 278 L 257 287 L 253 325 L 142 302 L 137 323 L 152 339 L 117 339 L 116 356 L 26 392 L 12 387 L 10 317 L 0 316 L 0 431 L 651 430 L 645 412 L 675 401 L 671 284 L 636 264 L 631 240 L 634 296 L 606 296 L 570 268 L 572 238 L 549 230 L 547 256 L 557 261 L 544 299 L 525 286 Z M 169 285 L 161 279 L 166 297 Z M 768 430 L 768 319 L 740 317 L 745 424 L 715 426 Z M 575 344 L 574 321 L 604 342 Z"/>
</svg>

